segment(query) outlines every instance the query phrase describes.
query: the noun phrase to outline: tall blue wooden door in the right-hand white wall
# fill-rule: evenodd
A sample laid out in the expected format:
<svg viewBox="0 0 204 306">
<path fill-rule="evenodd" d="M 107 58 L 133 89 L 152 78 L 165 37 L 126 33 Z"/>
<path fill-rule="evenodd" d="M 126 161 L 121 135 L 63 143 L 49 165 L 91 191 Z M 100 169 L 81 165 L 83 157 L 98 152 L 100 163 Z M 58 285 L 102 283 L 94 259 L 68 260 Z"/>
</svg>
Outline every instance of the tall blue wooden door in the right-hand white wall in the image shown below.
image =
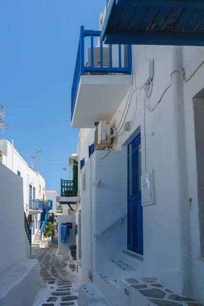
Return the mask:
<svg viewBox="0 0 204 306">
<path fill-rule="evenodd" d="M 140 135 L 127 146 L 127 167 L 127 249 L 143 254 Z"/>
</svg>

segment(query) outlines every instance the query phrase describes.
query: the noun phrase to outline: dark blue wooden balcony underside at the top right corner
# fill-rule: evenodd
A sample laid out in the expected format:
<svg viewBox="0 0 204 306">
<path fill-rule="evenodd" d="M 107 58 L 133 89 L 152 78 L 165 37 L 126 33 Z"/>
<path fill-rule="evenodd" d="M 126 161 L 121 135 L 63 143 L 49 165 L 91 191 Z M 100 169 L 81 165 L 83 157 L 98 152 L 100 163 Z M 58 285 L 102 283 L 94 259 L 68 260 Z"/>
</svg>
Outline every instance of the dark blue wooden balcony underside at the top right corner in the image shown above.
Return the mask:
<svg viewBox="0 0 204 306">
<path fill-rule="evenodd" d="M 109 0 L 101 40 L 204 46 L 203 0 Z"/>
</svg>

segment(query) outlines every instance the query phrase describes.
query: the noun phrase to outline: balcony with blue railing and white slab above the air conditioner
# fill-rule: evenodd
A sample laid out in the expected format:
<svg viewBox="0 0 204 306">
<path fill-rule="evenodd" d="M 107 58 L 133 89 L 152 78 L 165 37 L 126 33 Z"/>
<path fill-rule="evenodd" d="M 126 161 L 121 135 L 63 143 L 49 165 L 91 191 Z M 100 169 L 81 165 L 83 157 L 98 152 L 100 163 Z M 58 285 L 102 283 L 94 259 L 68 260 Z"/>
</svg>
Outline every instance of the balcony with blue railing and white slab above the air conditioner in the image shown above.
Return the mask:
<svg viewBox="0 0 204 306">
<path fill-rule="evenodd" d="M 81 27 L 71 91 L 72 127 L 91 128 L 95 121 L 111 120 L 130 89 L 131 73 L 130 45 L 104 45 L 100 31 Z"/>
</svg>

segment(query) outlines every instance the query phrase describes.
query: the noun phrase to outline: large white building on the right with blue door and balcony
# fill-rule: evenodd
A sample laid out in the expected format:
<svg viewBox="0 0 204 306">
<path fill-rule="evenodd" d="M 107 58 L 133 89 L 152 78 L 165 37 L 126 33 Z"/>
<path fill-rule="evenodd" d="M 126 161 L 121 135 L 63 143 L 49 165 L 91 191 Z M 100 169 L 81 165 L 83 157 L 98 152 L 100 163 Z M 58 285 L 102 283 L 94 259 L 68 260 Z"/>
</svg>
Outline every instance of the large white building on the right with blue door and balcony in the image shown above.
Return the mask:
<svg viewBox="0 0 204 306">
<path fill-rule="evenodd" d="M 94 35 L 82 28 L 81 48 Z M 112 46 L 112 67 L 100 67 L 92 49 L 74 74 L 86 284 L 79 304 L 194 302 L 173 294 L 204 302 L 203 47 L 131 49 Z"/>
</svg>

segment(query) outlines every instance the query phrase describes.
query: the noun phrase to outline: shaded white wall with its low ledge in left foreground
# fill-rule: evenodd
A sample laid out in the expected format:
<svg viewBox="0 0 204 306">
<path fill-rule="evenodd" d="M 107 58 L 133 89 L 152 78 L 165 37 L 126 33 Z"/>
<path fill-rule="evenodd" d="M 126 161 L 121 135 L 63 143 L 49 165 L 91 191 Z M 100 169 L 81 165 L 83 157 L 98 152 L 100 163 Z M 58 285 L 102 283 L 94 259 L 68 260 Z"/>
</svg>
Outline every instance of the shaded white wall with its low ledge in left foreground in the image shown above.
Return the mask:
<svg viewBox="0 0 204 306">
<path fill-rule="evenodd" d="M 23 205 L 23 179 L 2 163 L 0 173 L 0 304 L 32 306 L 42 283 L 38 260 L 28 259 L 31 246 Z"/>
</svg>

